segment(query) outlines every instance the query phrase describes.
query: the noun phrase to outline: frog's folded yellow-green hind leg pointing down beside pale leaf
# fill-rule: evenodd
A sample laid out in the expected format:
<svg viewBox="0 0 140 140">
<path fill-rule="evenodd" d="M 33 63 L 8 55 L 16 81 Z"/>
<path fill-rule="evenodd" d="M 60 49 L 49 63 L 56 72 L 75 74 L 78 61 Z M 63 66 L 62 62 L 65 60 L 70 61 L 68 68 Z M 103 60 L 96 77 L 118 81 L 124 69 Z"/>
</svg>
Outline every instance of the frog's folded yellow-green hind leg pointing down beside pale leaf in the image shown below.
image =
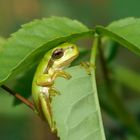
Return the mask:
<svg viewBox="0 0 140 140">
<path fill-rule="evenodd" d="M 55 127 L 55 122 L 52 118 L 50 99 L 46 97 L 45 94 L 41 93 L 39 96 L 39 100 L 40 100 L 43 117 L 45 118 L 45 120 L 48 121 L 51 131 L 55 132 L 56 127 Z"/>
</svg>

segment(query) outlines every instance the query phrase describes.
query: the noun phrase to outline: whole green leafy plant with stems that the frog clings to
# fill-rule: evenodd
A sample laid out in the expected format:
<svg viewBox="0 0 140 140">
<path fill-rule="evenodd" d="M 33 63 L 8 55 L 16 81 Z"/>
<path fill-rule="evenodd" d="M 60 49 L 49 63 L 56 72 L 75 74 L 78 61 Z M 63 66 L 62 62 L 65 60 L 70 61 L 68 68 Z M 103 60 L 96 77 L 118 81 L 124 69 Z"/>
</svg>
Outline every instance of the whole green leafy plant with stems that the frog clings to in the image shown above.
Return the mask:
<svg viewBox="0 0 140 140">
<path fill-rule="evenodd" d="M 104 110 L 126 128 L 127 134 L 140 137 L 139 122 L 125 107 L 118 83 L 123 83 L 140 91 L 138 74 L 112 62 L 117 53 L 116 42 L 140 55 L 138 30 L 140 19 L 126 18 L 111 23 L 107 27 L 96 26 L 89 29 L 82 23 L 62 17 L 35 20 L 5 40 L 0 40 L 0 85 L 32 110 L 34 105 L 24 97 L 31 95 L 33 73 L 45 52 L 63 42 L 76 43 L 88 37 L 93 40 L 91 50 L 80 48 L 80 56 L 66 71 L 72 75 L 70 80 L 58 78 L 55 86 L 60 96 L 52 100 L 52 110 L 56 121 L 57 134 L 62 140 L 104 140 L 104 130 L 98 102 L 95 71 L 98 72 L 96 57 L 99 57 L 104 82 L 99 86 L 100 104 Z M 91 53 L 91 54 L 90 54 Z M 90 59 L 88 57 L 90 55 Z M 90 62 L 87 72 L 79 62 Z M 96 70 L 97 69 L 97 70 Z M 91 73 L 91 74 L 90 74 Z M 122 75 L 122 76 L 121 76 Z M 130 76 L 133 82 L 127 77 Z M 13 90 L 6 84 L 16 81 Z M 137 80 L 138 85 L 134 84 Z M 21 95 L 22 96 L 21 96 Z"/>
</svg>

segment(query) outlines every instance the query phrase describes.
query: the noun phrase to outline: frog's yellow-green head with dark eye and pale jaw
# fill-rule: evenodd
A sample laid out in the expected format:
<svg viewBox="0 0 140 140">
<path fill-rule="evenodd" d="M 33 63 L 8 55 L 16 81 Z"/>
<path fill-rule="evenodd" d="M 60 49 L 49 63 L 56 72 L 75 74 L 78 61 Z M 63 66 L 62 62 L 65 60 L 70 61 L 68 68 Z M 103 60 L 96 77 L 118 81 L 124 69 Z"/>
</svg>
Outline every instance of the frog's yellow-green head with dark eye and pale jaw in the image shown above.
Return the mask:
<svg viewBox="0 0 140 140">
<path fill-rule="evenodd" d="M 79 54 L 75 44 L 64 43 L 52 50 L 53 66 L 63 68 L 68 66 Z"/>
</svg>

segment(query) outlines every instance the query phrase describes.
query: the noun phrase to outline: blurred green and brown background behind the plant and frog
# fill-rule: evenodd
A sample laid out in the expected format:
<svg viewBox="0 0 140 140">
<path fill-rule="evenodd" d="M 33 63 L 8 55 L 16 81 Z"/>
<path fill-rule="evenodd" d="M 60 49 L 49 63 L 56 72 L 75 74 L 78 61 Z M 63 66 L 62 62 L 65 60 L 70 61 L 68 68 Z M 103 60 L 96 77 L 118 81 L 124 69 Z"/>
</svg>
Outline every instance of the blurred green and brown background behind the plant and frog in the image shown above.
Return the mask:
<svg viewBox="0 0 140 140">
<path fill-rule="evenodd" d="M 140 17 L 139 9 L 139 0 L 0 0 L 0 36 L 7 38 L 17 31 L 21 24 L 36 18 L 67 16 L 93 28 L 95 25 L 108 25 L 113 20 L 128 16 Z M 118 48 L 113 63 L 129 67 L 136 72 L 140 71 L 138 56 L 122 47 Z M 125 104 L 131 112 L 137 112 L 140 119 L 139 91 L 126 86 L 122 88 Z M 0 90 L 0 93 L 2 92 L 4 91 Z M 0 94 L 0 139 L 56 139 L 49 133 L 46 124 L 25 105 L 13 107 L 12 104 L 13 97 Z M 122 128 L 116 129 L 116 122 L 106 113 L 103 113 L 103 118 L 107 139 L 135 140 L 132 136 L 124 138 Z"/>
</svg>

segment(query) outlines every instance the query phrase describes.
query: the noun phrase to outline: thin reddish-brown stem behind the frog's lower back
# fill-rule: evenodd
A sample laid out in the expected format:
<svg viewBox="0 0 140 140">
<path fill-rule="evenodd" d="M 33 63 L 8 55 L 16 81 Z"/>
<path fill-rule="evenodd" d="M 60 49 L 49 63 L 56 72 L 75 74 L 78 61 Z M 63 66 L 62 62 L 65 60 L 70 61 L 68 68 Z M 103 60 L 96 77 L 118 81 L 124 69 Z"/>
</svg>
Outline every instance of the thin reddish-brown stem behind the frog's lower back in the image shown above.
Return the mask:
<svg viewBox="0 0 140 140">
<path fill-rule="evenodd" d="M 26 98 L 24 98 L 20 94 L 16 93 L 15 91 L 11 90 L 6 85 L 1 85 L 1 88 L 4 89 L 5 91 L 7 91 L 12 96 L 16 97 L 18 100 L 20 100 L 21 102 L 23 102 L 25 105 L 27 105 L 29 108 L 31 108 L 34 111 L 34 105 L 33 105 L 32 102 L 30 102 L 29 100 L 27 100 Z"/>
</svg>

